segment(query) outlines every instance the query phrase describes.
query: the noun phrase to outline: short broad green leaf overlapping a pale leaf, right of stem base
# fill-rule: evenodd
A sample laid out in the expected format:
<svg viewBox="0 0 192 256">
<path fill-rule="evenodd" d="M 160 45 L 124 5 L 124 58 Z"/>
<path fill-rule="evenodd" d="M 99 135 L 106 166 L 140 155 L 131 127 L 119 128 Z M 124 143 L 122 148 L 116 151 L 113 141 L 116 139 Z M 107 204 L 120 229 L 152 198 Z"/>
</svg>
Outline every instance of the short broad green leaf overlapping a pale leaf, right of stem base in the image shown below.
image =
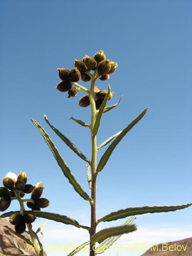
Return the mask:
<svg viewBox="0 0 192 256">
<path fill-rule="evenodd" d="M 133 232 L 137 230 L 136 225 L 122 225 L 117 227 L 104 228 L 93 235 L 91 238 L 93 243 L 102 243 L 104 240 L 114 236 L 121 236 L 122 234 Z"/>
</svg>

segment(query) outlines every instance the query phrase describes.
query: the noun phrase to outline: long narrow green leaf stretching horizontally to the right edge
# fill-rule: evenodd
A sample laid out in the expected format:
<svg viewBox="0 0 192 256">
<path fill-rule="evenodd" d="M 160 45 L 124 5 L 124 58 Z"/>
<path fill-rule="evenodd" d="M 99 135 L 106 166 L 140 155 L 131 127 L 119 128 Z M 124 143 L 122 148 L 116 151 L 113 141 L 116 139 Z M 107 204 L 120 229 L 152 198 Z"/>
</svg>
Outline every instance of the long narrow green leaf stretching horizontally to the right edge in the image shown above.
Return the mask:
<svg viewBox="0 0 192 256">
<path fill-rule="evenodd" d="M 100 223 L 101 221 L 115 221 L 118 219 L 123 219 L 133 215 L 141 215 L 141 214 L 155 214 L 156 212 L 168 212 L 181 210 L 191 206 L 190 204 L 182 204 L 182 205 L 174 205 L 174 206 L 143 206 L 143 207 L 131 207 L 126 209 L 121 209 L 118 211 L 113 211 L 111 214 L 105 215 L 101 219 L 97 221 Z"/>
</svg>

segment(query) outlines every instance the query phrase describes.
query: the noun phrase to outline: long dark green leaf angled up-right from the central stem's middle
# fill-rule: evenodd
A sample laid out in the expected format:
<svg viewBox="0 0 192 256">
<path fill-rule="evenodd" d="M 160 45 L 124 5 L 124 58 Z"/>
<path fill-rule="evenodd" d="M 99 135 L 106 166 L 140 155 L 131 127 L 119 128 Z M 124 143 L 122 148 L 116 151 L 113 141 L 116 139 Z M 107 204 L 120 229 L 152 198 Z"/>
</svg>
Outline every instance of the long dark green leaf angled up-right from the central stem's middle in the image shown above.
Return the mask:
<svg viewBox="0 0 192 256">
<path fill-rule="evenodd" d="M 143 112 L 136 118 L 134 119 L 129 125 L 125 127 L 125 129 L 116 137 L 116 139 L 110 144 L 110 146 L 107 148 L 105 153 L 102 155 L 99 164 L 97 166 L 96 172 L 100 172 L 103 167 L 105 166 L 106 162 L 109 160 L 112 152 L 114 151 L 115 147 L 117 144 L 121 141 L 121 139 L 133 128 L 135 124 L 141 120 L 141 118 L 145 115 L 147 112 L 148 108 L 144 109 Z"/>
</svg>

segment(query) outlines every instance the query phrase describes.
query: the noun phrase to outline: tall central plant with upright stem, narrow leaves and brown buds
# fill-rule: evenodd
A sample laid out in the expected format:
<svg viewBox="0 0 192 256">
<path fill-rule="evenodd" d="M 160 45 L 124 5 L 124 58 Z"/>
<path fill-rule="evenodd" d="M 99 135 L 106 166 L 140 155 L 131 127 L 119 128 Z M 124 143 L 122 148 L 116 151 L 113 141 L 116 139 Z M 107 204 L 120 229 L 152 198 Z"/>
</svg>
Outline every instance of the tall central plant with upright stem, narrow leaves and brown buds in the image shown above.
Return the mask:
<svg viewBox="0 0 192 256">
<path fill-rule="evenodd" d="M 143 207 L 127 207 L 125 209 L 119 209 L 114 212 L 110 212 L 108 215 L 103 216 L 102 218 L 98 219 L 96 215 L 96 198 L 97 198 L 97 177 L 100 172 L 104 169 L 106 163 L 110 159 L 113 151 L 115 150 L 118 143 L 124 138 L 124 136 L 130 132 L 130 130 L 143 118 L 146 114 L 148 108 L 144 109 L 133 121 L 131 121 L 124 129 L 117 132 L 115 135 L 107 138 L 103 141 L 100 145 L 97 145 L 97 134 L 101 124 L 101 118 L 105 113 L 113 110 L 118 106 L 121 98 L 118 100 L 117 103 L 106 106 L 109 100 L 113 98 L 113 93 L 111 92 L 110 85 L 105 90 L 100 90 L 96 86 L 97 80 L 105 81 L 108 80 L 112 73 L 114 73 L 117 69 L 118 65 L 116 62 L 111 61 L 110 59 L 106 59 L 105 54 L 103 51 L 99 51 L 95 53 L 93 57 L 88 55 L 84 56 L 81 59 L 75 59 L 74 68 L 69 70 L 67 68 L 59 68 L 58 75 L 61 81 L 57 84 L 56 89 L 60 92 L 68 93 L 68 98 L 74 98 L 78 95 L 78 92 L 81 90 L 84 92 L 84 96 L 79 99 L 79 106 L 82 108 L 86 108 L 91 106 L 91 117 L 90 117 L 90 124 L 86 122 L 71 117 L 73 121 L 88 129 L 91 137 L 91 152 L 90 157 L 88 158 L 85 156 L 77 146 L 73 144 L 73 142 L 68 139 L 65 135 L 63 135 L 59 130 L 57 130 L 48 120 L 47 116 L 45 115 L 45 121 L 51 127 L 51 129 L 56 133 L 56 135 L 67 145 L 70 149 L 85 162 L 85 168 L 87 169 L 87 180 L 88 185 L 91 190 L 90 195 L 86 193 L 86 191 L 81 187 L 79 182 L 76 180 L 75 176 L 71 172 L 71 169 L 68 167 L 66 161 L 61 157 L 57 147 L 55 146 L 54 142 L 48 135 L 48 133 L 42 128 L 42 126 L 34 119 L 32 119 L 33 124 L 36 126 L 38 131 L 44 137 L 46 143 L 50 147 L 50 150 L 56 159 L 59 167 L 62 170 L 63 175 L 68 179 L 68 181 L 73 186 L 76 193 L 79 194 L 81 198 L 86 200 L 90 204 L 90 226 L 85 226 L 79 224 L 78 221 L 61 214 L 54 214 L 53 212 L 46 212 L 46 211 L 39 211 L 39 209 L 34 208 L 36 205 L 36 201 L 31 198 L 28 201 L 28 206 L 32 209 L 32 214 L 35 217 L 46 218 L 50 220 L 54 220 L 57 222 L 62 222 L 64 224 L 70 224 L 78 228 L 86 229 L 89 232 L 89 241 L 79 245 L 78 248 L 70 252 L 67 256 L 73 256 L 78 251 L 83 250 L 83 248 L 90 247 L 85 251 L 89 251 L 90 256 L 95 256 L 96 254 L 103 253 L 109 246 L 111 246 L 117 239 L 119 239 L 122 234 L 133 232 L 137 229 L 135 224 L 132 224 L 133 221 L 136 219 L 136 215 L 142 215 L 147 213 L 155 213 L 155 212 L 168 212 L 168 211 L 175 211 L 178 209 L 184 209 L 192 205 L 184 204 L 184 205 L 176 205 L 176 206 L 143 206 Z M 79 81 L 82 82 L 90 82 L 89 87 L 82 86 Z M 67 99 L 68 100 L 68 99 Z M 107 129 L 105 127 L 105 129 Z M 110 129 L 108 129 L 110 133 Z M 98 151 L 100 148 L 108 146 L 101 156 L 100 159 L 97 158 Z M 21 184 L 22 186 L 22 184 Z M 2 190 L 3 191 L 3 190 Z M 7 191 L 7 190 L 6 190 Z M 12 190 L 11 190 L 12 191 Z M 14 190 L 13 190 L 14 191 Z M 9 193 L 10 191 L 6 192 L 5 194 L 1 194 L 1 210 L 6 210 L 9 207 L 11 202 L 11 196 Z M 8 196 L 9 195 L 9 196 Z M 6 200 L 5 200 L 6 198 Z M 39 199 L 40 200 L 40 199 Z M 6 202 L 5 202 L 6 201 Z M 47 202 L 48 204 L 48 202 Z M 28 212 L 28 211 L 27 211 Z M 25 212 L 25 214 L 27 213 Z M 30 211 L 31 213 L 31 211 Z M 3 214 L 1 217 L 11 217 L 11 220 L 14 218 L 24 218 L 23 214 L 21 217 L 14 217 L 14 212 L 7 212 Z M 19 216 L 20 216 L 19 215 Z M 14 218 L 13 218 L 14 217 Z M 130 217 L 128 220 L 125 221 L 124 224 L 120 226 L 104 228 L 102 230 L 97 231 L 97 226 L 101 222 L 111 222 L 119 219 L 124 219 Z M 12 221 L 13 222 L 13 221 Z M 14 222 L 15 223 L 15 222 Z M 100 244 L 100 245 L 98 245 Z M 40 255 L 37 252 L 37 255 Z"/>
</svg>

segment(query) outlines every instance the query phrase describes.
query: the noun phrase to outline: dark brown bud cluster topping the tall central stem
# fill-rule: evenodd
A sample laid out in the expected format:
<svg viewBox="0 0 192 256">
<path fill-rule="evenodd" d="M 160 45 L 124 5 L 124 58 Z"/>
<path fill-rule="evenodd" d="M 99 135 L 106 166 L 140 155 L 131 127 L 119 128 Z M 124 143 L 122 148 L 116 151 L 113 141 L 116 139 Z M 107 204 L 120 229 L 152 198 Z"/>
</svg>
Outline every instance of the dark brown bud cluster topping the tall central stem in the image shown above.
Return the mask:
<svg viewBox="0 0 192 256">
<path fill-rule="evenodd" d="M 94 58 L 85 55 L 82 60 L 75 59 L 74 63 L 75 68 L 68 70 L 66 68 L 57 69 L 59 71 L 58 75 L 61 81 L 57 84 L 56 89 L 60 92 L 68 92 L 68 98 L 75 97 L 80 90 L 77 87 L 76 82 L 80 79 L 84 82 L 88 82 L 91 79 L 96 80 L 108 80 L 110 74 L 116 71 L 117 63 L 106 59 L 106 56 L 102 50 L 95 53 Z M 91 72 L 94 71 L 94 74 Z M 76 86 L 76 87 L 74 87 Z M 106 96 L 107 91 L 99 91 L 95 87 L 95 105 L 98 110 L 102 104 L 104 97 Z M 109 99 L 111 99 L 113 94 L 111 93 Z M 90 105 L 89 95 L 83 96 L 79 100 L 79 106 L 86 107 Z"/>
</svg>

